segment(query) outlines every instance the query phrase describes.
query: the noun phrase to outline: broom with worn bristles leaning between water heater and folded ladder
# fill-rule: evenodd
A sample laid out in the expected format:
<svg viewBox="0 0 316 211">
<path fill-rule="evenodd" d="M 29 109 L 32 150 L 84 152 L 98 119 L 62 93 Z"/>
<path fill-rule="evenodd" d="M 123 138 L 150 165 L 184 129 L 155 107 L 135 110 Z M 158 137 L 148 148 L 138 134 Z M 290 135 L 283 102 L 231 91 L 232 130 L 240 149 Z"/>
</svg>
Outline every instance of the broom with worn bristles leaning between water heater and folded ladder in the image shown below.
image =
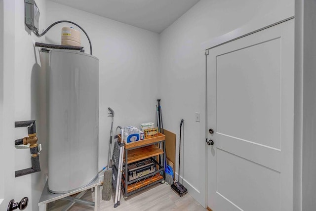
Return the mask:
<svg viewBox="0 0 316 211">
<path fill-rule="evenodd" d="M 102 190 L 102 200 L 110 201 L 111 200 L 111 192 L 112 192 L 112 162 L 111 162 L 111 148 L 112 148 L 112 135 L 113 135 L 113 120 L 114 120 L 114 111 L 109 107 L 109 114 L 112 115 L 112 124 L 110 131 L 110 149 L 109 149 L 109 165 L 108 169 L 104 171 L 103 177 L 103 190 Z"/>
</svg>

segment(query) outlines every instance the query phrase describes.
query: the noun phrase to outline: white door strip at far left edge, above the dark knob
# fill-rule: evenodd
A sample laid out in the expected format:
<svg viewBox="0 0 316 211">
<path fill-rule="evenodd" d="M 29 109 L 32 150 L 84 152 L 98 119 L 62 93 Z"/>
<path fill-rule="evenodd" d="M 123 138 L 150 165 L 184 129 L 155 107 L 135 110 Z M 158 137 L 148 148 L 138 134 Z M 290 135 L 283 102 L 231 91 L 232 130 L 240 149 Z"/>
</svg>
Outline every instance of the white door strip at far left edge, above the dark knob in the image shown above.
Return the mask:
<svg viewBox="0 0 316 211">
<path fill-rule="evenodd" d="M 3 185 L 4 201 L 0 205 L 0 210 L 6 210 L 8 203 L 15 196 L 14 183 L 14 72 L 15 72 L 15 1 L 14 0 L 0 0 L 2 3 L 2 56 L 3 59 L 0 68 L 1 97 L 3 104 L 2 110 L 0 108 L 0 127 L 2 129 L 1 138 L 1 167 L 5 169 L 0 175 L 2 180 L 0 184 Z M 13 27 L 12 27 L 13 26 Z M 1 151 L 1 150 L 0 150 Z M 7 162 L 3 162 L 7 161 Z M 1 191 L 1 190 L 0 190 Z"/>
</svg>

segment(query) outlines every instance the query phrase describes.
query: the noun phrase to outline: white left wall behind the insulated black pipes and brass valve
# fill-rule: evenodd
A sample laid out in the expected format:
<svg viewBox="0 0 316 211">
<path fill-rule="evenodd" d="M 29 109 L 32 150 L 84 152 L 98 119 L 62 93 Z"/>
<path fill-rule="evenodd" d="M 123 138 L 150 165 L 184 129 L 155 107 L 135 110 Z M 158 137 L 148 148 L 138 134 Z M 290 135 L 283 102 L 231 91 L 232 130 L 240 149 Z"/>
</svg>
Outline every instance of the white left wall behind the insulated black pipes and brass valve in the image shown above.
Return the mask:
<svg viewBox="0 0 316 211">
<path fill-rule="evenodd" d="M 34 48 L 32 41 L 43 41 L 37 38 L 24 23 L 24 0 L 15 0 L 15 46 L 14 46 L 14 121 L 36 120 L 39 141 L 44 150 L 40 153 L 40 173 L 33 173 L 15 178 L 15 200 L 24 196 L 30 200 L 29 210 L 37 210 L 40 194 L 47 174 L 45 92 L 43 77 L 45 62 L 40 59 L 39 49 Z M 40 28 L 45 26 L 45 0 L 36 0 L 40 9 Z M 15 128 L 14 139 L 27 136 L 27 128 Z M 12 142 L 13 143 L 13 142 Z M 14 150 L 15 170 L 31 167 L 30 150 Z M 21 188 L 23 187 L 23 191 Z"/>
</svg>

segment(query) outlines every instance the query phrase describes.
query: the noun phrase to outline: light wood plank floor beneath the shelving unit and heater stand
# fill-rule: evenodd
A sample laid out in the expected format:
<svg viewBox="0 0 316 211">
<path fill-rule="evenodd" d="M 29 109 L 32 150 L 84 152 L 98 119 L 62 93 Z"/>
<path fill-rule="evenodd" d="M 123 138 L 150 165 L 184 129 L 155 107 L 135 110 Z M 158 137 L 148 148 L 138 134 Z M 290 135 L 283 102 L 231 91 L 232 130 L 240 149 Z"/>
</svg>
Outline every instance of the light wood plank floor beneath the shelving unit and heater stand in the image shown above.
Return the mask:
<svg viewBox="0 0 316 211">
<path fill-rule="evenodd" d="M 101 187 L 102 193 L 102 187 Z M 100 196 L 102 196 L 100 193 Z M 100 200 L 100 211 L 205 211 L 189 194 L 179 197 L 170 185 L 158 183 L 124 199 L 114 208 L 115 192 L 112 188 L 112 199 L 109 202 Z M 88 190 L 81 199 L 91 200 L 94 193 Z M 58 200 L 48 205 L 49 211 L 61 211 L 68 201 Z M 76 203 L 69 211 L 93 211 L 93 208 Z"/>
</svg>

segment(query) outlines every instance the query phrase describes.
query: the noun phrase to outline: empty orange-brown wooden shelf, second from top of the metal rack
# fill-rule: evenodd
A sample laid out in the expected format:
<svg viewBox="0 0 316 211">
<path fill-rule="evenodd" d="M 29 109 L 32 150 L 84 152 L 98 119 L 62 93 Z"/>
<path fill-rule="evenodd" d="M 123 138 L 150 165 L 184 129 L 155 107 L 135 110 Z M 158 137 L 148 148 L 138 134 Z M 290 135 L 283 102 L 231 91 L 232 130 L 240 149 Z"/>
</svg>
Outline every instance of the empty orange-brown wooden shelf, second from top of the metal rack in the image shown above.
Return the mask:
<svg viewBox="0 0 316 211">
<path fill-rule="evenodd" d="M 154 144 L 141 148 L 131 149 L 128 150 L 127 153 L 127 164 L 141 161 L 161 154 L 163 154 L 163 150 Z"/>
</svg>

